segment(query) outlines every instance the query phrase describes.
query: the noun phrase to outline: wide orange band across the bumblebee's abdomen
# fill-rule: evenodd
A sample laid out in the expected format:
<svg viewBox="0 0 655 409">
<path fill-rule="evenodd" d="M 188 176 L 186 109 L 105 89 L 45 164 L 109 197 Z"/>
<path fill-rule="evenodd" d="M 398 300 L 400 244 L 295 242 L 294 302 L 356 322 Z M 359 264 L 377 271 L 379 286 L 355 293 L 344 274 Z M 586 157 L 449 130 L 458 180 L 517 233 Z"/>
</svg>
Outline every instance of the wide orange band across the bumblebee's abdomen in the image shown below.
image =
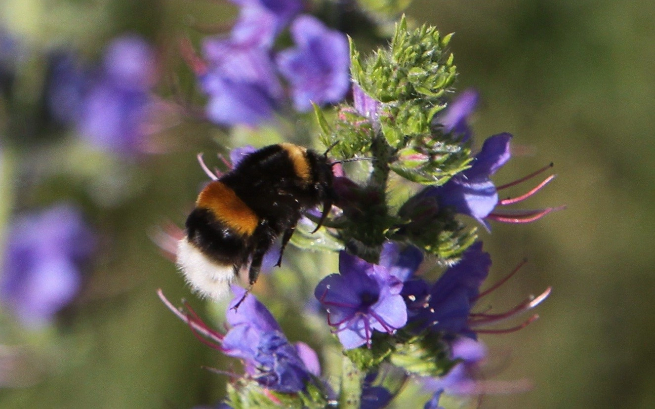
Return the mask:
<svg viewBox="0 0 655 409">
<path fill-rule="evenodd" d="M 196 206 L 210 210 L 219 222 L 241 235 L 252 235 L 259 224 L 255 212 L 223 182 L 211 182 L 202 189 Z"/>
</svg>

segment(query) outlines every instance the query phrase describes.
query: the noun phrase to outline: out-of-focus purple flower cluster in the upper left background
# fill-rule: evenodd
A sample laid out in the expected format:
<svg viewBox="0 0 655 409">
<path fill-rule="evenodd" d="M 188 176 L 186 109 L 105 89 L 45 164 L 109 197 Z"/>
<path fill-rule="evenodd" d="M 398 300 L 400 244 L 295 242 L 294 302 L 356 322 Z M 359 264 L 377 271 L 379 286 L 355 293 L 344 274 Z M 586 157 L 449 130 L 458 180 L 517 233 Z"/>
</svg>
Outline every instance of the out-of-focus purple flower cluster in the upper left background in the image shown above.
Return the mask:
<svg viewBox="0 0 655 409">
<path fill-rule="evenodd" d="M 93 146 L 132 155 L 145 145 L 155 69 L 153 49 L 136 35 L 112 41 L 96 69 L 81 67 L 73 54 L 53 54 L 50 109 L 60 121 L 75 123 Z"/>
</svg>

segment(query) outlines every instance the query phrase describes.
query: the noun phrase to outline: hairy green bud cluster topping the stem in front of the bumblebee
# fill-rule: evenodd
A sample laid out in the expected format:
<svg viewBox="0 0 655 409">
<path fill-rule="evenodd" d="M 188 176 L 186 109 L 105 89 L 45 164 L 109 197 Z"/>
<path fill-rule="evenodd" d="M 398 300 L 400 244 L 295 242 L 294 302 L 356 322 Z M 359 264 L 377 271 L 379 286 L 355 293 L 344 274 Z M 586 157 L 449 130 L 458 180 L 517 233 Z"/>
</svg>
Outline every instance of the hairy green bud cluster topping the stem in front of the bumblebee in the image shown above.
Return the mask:
<svg viewBox="0 0 655 409">
<path fill-rule="evenodd" d="M 457 262 L 476 240 L 447 208 L 411 198 L 394 212 L 387 202 L 390 172 L 422 185 L 442 185 L 470 166 L 470 145 L 443 132 L 434 115 L 446 106 L 445 94 L 457 77 L 451 35 L 430 26 L 407 27 L 403 16 L 389 47 L 362 58 L 352 41 L 351 73 L 371 106 L 342 104 L 328 120 L 314 107 L 320 140 L 335 157 L 374 157 L 367 184 L 352 187 L 334 234 L 346 248 L 369 262 L 388 239 L 408 241 L 443 263 Z"/>
</svg>

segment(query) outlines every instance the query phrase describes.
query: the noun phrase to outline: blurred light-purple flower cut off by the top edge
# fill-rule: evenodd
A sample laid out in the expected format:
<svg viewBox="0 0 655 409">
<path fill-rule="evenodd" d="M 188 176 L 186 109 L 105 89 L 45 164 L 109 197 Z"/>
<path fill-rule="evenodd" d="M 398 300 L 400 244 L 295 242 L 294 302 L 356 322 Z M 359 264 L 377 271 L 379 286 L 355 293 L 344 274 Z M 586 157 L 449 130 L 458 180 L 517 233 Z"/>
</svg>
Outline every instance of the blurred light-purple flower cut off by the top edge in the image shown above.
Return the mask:
<svg viewBox="0 0 655 409">
<path fill-rule="evenodd" d="M 270 48 L 278 33 L 303 10 L 300 0 L 231 0 L 241 7 L 231 37 L 249 47 Z"/>
</svg>

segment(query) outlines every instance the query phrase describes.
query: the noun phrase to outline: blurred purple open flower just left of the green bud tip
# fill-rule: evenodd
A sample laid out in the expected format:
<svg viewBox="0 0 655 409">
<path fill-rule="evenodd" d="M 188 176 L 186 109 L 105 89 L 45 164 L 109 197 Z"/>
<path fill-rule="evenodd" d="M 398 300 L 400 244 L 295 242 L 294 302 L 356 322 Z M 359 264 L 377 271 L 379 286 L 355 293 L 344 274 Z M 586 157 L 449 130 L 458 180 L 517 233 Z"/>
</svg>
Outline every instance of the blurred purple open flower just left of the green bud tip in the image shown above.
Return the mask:
<svg viewBox="0 0 655 409">
<path fill-rule="evenodd" d="M 296 47 L 280 52 L 277 64 L 291 84 L 295 108 L 305 112 L 312 108 L 312 102 L 341 101 L 350 88 L 346 36 L 309 15 L 293 21 L 291 35 Z"/>
</svg>

